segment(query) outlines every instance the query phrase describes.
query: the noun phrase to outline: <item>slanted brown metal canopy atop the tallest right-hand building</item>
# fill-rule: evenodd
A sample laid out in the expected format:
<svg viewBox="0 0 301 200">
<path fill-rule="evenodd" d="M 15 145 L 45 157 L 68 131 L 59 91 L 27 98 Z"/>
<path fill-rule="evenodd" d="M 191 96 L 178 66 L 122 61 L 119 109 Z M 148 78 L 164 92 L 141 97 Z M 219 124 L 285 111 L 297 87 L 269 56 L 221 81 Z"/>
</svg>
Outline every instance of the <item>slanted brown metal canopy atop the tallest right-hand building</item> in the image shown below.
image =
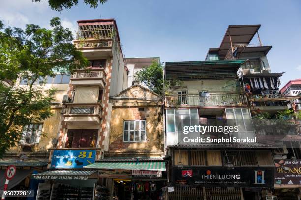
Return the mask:
<svg viewBox="0 0 301 200">
<path fill-rule="evenodd" d="M 232 44 L 248 44 L 257 33 L 260 25 L 229 25 L 219 46 L 218 54 L 224 58 Z"/>
</svg>

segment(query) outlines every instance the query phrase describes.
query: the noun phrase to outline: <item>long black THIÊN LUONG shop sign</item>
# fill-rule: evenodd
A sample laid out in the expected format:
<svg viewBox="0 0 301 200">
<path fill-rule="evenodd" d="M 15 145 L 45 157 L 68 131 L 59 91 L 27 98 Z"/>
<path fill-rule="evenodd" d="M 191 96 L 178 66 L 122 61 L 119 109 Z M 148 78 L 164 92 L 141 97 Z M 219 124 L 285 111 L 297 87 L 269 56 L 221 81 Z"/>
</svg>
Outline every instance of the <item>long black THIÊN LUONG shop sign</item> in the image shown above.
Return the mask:
<svg viewBox="0 0 301 200">
<path fill-rule="evenodd" d="M 176 184 L 206 186 L 272 187 L 273 168 L 174 168 Z"/>
</svg>

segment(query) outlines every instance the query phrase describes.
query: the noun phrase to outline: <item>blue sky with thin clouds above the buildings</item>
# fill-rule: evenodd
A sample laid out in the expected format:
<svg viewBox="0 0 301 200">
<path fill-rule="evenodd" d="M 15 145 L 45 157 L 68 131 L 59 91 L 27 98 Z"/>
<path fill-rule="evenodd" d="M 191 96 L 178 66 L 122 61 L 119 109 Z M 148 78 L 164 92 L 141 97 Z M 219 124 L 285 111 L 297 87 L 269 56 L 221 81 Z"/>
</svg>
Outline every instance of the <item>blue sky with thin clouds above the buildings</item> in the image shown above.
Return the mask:
<svg viewBox="0 0 301 200">
<path fill-rule="evenodd" d="M 272 45 L 272 72 L 286 73 L 281 82 L 301 78 L 301 0 L 108 0 L 93 9 L 82 3 L 61 13 L 46 0 L 6 0 L 0 19 L 11 26 L 47 27 L 59 16 L 76 30 L 82 19 L 115 18 L 126 57 L 159 56 L 161 61 L 204 60 L 219 47 L 228 25 L 261 24 L 260 38 Z"/>
</svg>

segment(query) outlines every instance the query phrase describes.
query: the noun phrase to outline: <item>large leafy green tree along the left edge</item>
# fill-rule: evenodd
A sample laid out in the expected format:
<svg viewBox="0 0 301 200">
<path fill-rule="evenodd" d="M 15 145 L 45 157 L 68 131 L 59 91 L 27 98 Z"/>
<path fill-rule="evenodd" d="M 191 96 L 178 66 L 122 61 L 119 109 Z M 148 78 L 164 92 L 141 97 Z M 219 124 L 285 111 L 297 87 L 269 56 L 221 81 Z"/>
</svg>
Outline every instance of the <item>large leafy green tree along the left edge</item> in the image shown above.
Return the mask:
<svg viewBox="0 0 301 200">
<path fill-rule="evenodd" d="M 22 138 L 22 127 L 51 116 L 54 89 L 43 89 L 46 77 L 72 73 L 88 60 L 72 44 L 72 32 L 60 18 L 51 29 L 28 24 L 23 30 L 0 22 L 0 157 Z M 4 84 L 11 80 L 12 85 Z M 14 86 L 24 80 L 22 87 Z"/>
</svg>

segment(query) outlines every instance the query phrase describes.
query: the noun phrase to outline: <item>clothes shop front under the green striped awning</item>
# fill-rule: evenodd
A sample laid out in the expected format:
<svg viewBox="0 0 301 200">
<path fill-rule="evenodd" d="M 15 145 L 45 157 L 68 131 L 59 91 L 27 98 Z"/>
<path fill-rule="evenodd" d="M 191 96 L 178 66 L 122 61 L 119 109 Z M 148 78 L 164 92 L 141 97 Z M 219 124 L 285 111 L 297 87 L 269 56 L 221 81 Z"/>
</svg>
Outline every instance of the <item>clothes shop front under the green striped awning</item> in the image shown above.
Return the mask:
<svg viewBox="0 0 301 200">
<path fill-rule="evenodd" d="M 84 167 L 99 169 L 115 200 L 161 200 L 167 186 L 164 161 L 97 162 Z"/>
</svg>

